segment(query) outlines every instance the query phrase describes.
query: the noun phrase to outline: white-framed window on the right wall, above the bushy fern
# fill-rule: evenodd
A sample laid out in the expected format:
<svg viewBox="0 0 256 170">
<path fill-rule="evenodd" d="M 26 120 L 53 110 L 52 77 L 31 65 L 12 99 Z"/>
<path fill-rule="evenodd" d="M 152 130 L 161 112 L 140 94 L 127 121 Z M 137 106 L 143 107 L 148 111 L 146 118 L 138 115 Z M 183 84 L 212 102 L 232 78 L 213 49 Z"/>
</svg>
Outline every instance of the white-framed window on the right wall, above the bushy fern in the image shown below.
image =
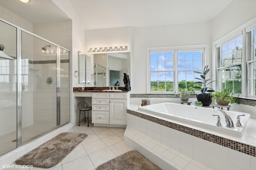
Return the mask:
<svg viewBox="0 0 256 170">
<path fill-rule="evenodd" d="M 256 18 L 214 44 L 216 90 L 227 88 L 240 97 L 256 98 Z"/>
</svg>

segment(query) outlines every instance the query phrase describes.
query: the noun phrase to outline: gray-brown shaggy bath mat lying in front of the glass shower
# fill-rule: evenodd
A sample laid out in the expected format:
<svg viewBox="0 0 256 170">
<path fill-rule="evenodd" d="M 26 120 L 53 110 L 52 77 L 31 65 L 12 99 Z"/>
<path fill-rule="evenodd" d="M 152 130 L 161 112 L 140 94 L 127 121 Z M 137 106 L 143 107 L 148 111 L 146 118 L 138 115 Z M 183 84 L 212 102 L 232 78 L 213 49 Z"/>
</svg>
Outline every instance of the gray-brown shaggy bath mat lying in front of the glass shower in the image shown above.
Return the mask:
<svg viewBox="0 0 256 170">
<path fill-rule="evenodd" d="M 33 165 L 40 168 L 51 168 L 65 158 L 87 134 L 85 133 L 60 133 L 56 137 L 40 145 L 36 149 L 24 154 L 16 160 L 19 165 Z"/>
</svg>

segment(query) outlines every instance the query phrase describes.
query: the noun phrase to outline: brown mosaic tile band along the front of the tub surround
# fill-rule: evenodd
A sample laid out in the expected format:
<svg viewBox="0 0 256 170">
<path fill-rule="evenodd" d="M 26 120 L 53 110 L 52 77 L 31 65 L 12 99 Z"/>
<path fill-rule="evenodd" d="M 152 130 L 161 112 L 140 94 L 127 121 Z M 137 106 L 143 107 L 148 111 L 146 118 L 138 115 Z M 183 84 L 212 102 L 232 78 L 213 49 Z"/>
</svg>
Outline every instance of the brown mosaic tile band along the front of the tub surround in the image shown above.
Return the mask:
<svg viewBox="0 0 256 170">
<path fill-rule="evenodd" d="M 233 140 L 230 140 L 230 139 L 227 139 L 227 138 L 224 138 L 224 137 L 219 137 L 217 135 L 212 135 L 210 133 L 206 133 L 206 132 L 203 132 L 203 131 L 192 129 L 190 127 L 179 125 L 177 123 L 172 123 L 170 121 L 162 120 L 162 119 L 152 117 L 152 116 L 149 116 L 149 115 L 144 115 L 142 113 L 138 113 L 136 111 L 132 111 L 132 110 L 129 110 L 129 109 L 127 109 L 127 113 L 129 113 L 131 115 L 134 115 L 134 116 L 137 116 L 137 117 L 140 117 L 142 119 L 146 119 L 148 121 L 152 121 L 154 123 L 158 123 L 160 125 L 164 125 L 166 127 L 170 127 L 172 129 L 187 133 L 187 134 L 192 135 L 194 137 L 198 137 L 200 139 L 204 139 L 206 141 L 216 143 L 218 145 L 221 145 L 221 146 L 236 150 L 238 152 L 242 152 L 242 153 L 245 153 L 245 154 L 256 157 L 256 152 L 255 152 L 256 148 L 254 146 L 247 145 L 247 144 L 244 144 L 244 143 L 240 143 L 240 142 L 237 142 L 237 141 L 233 141 Z"/>
</svg>

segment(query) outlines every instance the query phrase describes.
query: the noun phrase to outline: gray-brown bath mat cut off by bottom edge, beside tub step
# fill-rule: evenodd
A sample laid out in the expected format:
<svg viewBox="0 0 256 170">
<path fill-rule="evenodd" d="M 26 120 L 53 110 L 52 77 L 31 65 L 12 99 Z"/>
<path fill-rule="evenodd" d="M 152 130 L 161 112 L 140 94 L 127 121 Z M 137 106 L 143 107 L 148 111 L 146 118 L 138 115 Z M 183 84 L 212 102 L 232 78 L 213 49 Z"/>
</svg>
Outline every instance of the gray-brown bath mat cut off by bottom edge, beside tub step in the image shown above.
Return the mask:
<svg viewBox="0 0 256 170">
<path fill-rule="evenodd" d="M 99 165 L 96 170 L 161 170 L 139 154 L 136 150 L 130 150 L 116 158 Z"/>
</svg>

